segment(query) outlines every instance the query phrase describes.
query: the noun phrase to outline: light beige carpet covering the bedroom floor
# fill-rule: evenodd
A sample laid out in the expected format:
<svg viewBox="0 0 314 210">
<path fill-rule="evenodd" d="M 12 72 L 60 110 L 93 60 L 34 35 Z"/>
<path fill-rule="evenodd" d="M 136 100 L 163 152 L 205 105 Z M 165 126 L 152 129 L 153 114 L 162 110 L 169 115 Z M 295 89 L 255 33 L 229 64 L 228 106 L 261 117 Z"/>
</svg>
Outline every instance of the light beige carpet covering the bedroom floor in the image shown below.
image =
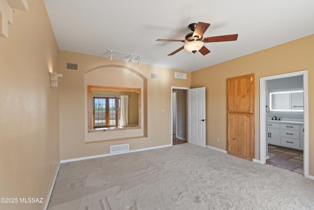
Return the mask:
<svg viewBox="0 0 314 210">
<path fill-rule="evenodd" d="M 63 163 L 48 210 L 314 210 L 314 180 L 190 144 Z"/>
</svg>

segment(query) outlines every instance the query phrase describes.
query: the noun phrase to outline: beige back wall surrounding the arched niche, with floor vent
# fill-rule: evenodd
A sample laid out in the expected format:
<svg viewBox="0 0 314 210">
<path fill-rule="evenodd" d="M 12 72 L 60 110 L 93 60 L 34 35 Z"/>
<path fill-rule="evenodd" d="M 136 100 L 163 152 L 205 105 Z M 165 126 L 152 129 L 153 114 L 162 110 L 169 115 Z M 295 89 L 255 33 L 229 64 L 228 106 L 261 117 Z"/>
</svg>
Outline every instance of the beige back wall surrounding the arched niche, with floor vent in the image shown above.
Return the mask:
<svg viewBox="0 0 314 210">
<path fill-rule="evenodd" d="M 184 72 L 187 73 L 187 79 L 183 80 L 174 78 L 175 70 L 173 69 L 145 65 L 143 63 L 138 65 L 136 62 L 129 63 L 128 60 L 108 60 L 108 58 L 63 50 L 60 50 L 59 58 L 59 72 L 63 74 L 63 78 L 59 80 L 61 160 L 106 154 L 110 152 L 111 145 L 129 143 L 130 150 L 139 150 L 171 144 L 171 86 L 190 87 L 190 72 Z M 79 70 L 66 70 L 67 62 L 77 63 Z M 134 79 L 140 78 L 143 81 L 142 127 L 144 130 L 142 133 L 144 137 L 116 141 L 114 139 L 119 138 L 119 136 L 127 137 L 128 132 L 132 135 L 131 133 L 136 131 L 105 131 L 92 135 L 93 141 L 98 141 L 97 143 L 90 144 L 87 142 L 88 138 L 86 138 L 86 133 L 84 133 L 87 117 L 85 115 L 86 87 L 87 85 L 97 84 L 84 84 L 84 75 L 95 71 L 94 69 L 102 69 L 104 78 L 112 78 L 111 81 L 102 83 L 102 85 L 131 87 L 132 84 L 121 84 L 117 81 L 124 74 L 127 77 L 134 77 Z M 112 72 L 114 69 L 120 69 L 120 76 Z M 131 75 L 129 75 L 130 73 Z M 158 74 L 158 79 L 152 79 L 152 73 Z M 100 81 L 95 80 L 95 82 L 98 83 Z M 166 112 L 161 113 L 161 109 L 165 109 Z M 145 125 L 147 126 L 146 129 Z M 163 136 L 165 136 L 164 139 Z"/>
</svg>

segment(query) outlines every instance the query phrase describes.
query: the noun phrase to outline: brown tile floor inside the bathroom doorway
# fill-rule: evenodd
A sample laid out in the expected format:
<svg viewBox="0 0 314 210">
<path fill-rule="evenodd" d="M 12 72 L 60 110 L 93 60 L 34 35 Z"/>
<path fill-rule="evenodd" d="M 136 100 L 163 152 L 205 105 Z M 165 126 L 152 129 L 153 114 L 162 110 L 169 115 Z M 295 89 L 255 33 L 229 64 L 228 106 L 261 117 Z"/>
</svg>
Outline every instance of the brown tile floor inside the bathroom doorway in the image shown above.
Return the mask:
<svg viewBox="0 0 314 210">
<path fill-rule="evenodd" d="M 303 174 L 303 151 L 268 145 L 266 164 Z"/>
</svg>

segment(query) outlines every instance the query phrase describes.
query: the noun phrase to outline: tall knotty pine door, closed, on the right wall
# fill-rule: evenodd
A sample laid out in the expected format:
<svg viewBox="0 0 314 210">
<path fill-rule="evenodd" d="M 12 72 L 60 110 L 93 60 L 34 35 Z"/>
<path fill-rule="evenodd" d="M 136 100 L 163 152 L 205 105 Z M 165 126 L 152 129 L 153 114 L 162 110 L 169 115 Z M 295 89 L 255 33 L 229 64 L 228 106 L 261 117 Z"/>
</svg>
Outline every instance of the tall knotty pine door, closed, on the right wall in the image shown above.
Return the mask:
<svg viewBox="0 0 314 210">
<path fill-rule="evenodd" d="M 254 74 L 227 80 L 228 153 L 252 160 L 254 154 Z"/>
</svg>

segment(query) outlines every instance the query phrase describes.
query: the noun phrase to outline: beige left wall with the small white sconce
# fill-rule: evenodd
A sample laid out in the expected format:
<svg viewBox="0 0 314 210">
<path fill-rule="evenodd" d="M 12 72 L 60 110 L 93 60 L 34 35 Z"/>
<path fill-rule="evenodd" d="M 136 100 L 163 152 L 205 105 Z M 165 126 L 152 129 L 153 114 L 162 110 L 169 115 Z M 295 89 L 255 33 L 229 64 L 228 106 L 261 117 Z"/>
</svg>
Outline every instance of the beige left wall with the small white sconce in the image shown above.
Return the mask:
<svg viewBox="0 0 314 210">
<path fill-rule="evenodd" d="M 59 49 L 44 1 L 27 3 L 0 37 L 0 198 L 44 203 L 0 203 L 1 210 L 42 210 L 59 164 L 59 89 L 49 75 Z"/>
</svg>

